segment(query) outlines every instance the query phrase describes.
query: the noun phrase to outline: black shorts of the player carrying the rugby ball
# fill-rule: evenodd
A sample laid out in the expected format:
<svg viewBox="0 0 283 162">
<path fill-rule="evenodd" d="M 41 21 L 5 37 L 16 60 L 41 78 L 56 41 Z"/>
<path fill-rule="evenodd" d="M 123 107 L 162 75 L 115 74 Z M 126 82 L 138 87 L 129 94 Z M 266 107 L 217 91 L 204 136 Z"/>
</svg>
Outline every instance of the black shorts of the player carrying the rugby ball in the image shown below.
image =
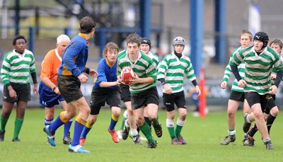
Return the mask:
<svg viewBox="0 0 283 162">
<path fill-rule="evenodd" d="M 159 104 L 159 97 L 156 86 L 150 88 L 141 93 L 132 93 L 132 110 L 137 110 L 141 107 L 145 107 L 149 103 L 153 103 L 158 105 Z"/>
</svg>

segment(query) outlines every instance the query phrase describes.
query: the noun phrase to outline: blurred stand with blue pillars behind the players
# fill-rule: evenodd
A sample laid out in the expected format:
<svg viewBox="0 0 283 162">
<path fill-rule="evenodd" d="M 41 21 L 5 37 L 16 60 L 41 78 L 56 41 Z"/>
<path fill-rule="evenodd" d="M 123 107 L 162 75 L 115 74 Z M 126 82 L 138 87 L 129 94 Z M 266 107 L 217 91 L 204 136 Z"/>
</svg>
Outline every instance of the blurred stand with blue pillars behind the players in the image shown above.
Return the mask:
<svg viewBox="0 0 283 162">
<path fill-rule="evenodd" d="M 172 52 L 173 38 L 182 36 L 186 40 L 184 54 L 192 60 L 197 78 L 204 76 L 207 107 L 223 110 L 234 78 L 226 90 L 221 89 L 220 83 L 231 51 L 240 46 L 241 30 L 248 29 L 253 34 L 265 31 L 270 40 L 282 40 L 281 4 L 281 0 L 0 0 L 0 58 L 2 62 L 4 54 L 13 50 L 15 35 L 25 35 L 40 76 L 42 59 L 56 47 L 57 36 L 74 37 L 83 16 L 91 16 L 97 22 L 89 46 L 88 66 L 93 69 L 97 68 L 104 45 L 112 41 L 124 50 L 129 33 L 148 37 L 151 52 L 160 59 Z M 86 98 L 90 97 L 92 86 L 93 79 L 83 84 Z M 191 88 L 192 83 L 186 81 L 188 108 L 195 109 Z M 162 97 L 161 89 L 158 83 Z M 282 88 L 277 98 L 282 98 Z M 282 102 L 277 100 L 279 108 Z M 38 99 L 33 97 L 28 105 L 39 106 Z"/>
</svg>

